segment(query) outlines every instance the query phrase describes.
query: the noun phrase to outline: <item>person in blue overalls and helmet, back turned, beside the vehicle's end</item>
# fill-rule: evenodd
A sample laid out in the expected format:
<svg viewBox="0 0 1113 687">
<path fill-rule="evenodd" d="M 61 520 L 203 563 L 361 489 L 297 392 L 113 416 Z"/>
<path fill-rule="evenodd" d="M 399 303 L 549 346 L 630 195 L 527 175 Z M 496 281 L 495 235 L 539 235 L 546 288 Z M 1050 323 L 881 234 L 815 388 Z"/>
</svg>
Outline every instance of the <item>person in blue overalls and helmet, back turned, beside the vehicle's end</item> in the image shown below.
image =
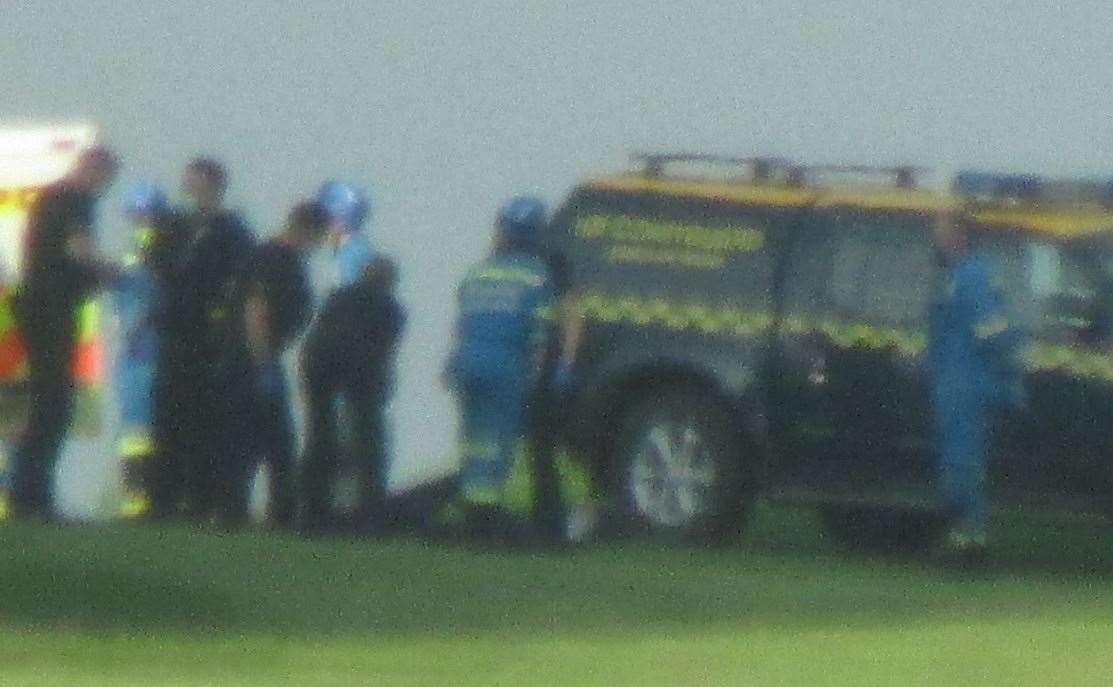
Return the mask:
<svg viewBox="0 0 1113 687">
<path fill-rule="evenodd" d="M 446 381 L 463 415 L 460 504 L 470 533 L 481 539 L 521 531 L 501 500 L 551 332 L 551 279 L 538 255 L 544 224 L 542 202 L 510 200 L 499 213 L 492 255 L 460 286 Z"/>
</svg>

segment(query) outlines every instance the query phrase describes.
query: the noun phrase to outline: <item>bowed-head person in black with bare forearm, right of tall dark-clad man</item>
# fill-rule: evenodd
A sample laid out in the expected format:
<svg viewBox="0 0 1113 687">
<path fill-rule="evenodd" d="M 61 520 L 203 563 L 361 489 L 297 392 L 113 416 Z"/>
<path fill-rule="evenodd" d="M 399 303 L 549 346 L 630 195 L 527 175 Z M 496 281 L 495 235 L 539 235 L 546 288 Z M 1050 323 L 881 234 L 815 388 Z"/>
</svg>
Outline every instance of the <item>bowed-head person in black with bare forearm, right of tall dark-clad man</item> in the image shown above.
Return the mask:
<svg viewBox="0 0 1113 687">
<path fill-rule="evenodd" d="M 272 524 L 294 524 L 294 431 L 282 359 L 313 314 L 305 262 L 327 228 L 328 216 L 321 205 L 297 205 L 283 233 L 255 252 L 237 288 L 234 316 L 239 330 L 227 352 L 225 372 L 238 384 L 238 391 L 227 396 L 227 416 L 236 419 L 237 426 L 220 472 L 227 490 L 223 516 L 229 524 L 246 516 L 248 483 L 259 461 L 270 469 Z"/>
</svg>

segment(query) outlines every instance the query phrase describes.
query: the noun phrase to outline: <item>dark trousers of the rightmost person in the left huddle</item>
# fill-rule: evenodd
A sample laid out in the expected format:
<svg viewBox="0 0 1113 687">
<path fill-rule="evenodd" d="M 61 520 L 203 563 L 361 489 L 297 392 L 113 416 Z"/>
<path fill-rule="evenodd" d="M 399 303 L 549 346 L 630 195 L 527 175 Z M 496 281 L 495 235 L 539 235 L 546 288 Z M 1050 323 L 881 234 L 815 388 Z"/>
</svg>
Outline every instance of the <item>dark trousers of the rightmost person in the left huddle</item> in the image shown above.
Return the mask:
<svg viewBox="0 0 1113 687">
<path fill-rule="evenodd" d="M 359 479 L 357 524 L 374 526 L 385 513 L 386 432 L 383 413 L 386 393 L 362 375 L 313 374 L 305 379 L 308 403 L 306 452 L 302 462 L 305 524 L 319 527 L 332 518 L 333 484 L 344 460 L 337 406 L 347 403 L 353 422 L 351 460 Z"/>
</svg>

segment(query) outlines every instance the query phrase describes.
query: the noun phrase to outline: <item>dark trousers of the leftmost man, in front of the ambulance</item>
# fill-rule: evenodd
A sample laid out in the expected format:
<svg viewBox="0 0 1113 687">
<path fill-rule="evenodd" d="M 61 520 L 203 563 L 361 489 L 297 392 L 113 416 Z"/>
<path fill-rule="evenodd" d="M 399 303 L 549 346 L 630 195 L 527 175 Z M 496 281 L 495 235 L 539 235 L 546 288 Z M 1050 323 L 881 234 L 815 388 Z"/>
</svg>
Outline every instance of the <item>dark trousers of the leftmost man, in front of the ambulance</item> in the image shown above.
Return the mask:
<svg viewBox="0 0 1113 687">
<path fill-rule="evenodd" d="M 17 516 L 53 514 L 55 467 L 73 416 L 72 316 L 20 323 L 30 367 L 30 412 L 14 453 L 12 504 Z"/>
</svg>

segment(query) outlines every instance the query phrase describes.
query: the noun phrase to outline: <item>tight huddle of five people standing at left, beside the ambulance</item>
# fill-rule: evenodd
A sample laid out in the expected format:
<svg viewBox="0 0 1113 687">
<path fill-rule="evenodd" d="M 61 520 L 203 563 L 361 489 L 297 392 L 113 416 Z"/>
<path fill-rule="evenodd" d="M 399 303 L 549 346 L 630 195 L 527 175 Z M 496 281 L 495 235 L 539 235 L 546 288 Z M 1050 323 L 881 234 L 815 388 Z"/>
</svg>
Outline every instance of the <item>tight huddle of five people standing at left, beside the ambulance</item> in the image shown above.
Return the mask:
<svg viewBox="0 0 1113 687">
<path fill-rule="evenodd" d="M 53 468 L 73 411 L 75 313 L 105 289 L 120 324 L 122 514 L 239 524 L 266 464 L 273 524 L 328 526 L 343 401 L 354 436 L 343 455 L 356 462 L 362 487 L 356 516 L 373 519 L 385 493 L 382 418 L 405 315 L 395 264 L 365 232 L 366 196 L 328 181 L 257 242 L 224 206 L 223 165 L 198 158 L 183 176 L 187 207 L 151 184 L 126 189 L 131 251 L 120 263 L 98 255 L 92 233 L 95 203 L 117 167 L 111 150 L 86 151 L 30 214 L 13 310 L 31 409 L 13 455 L 13 514 L 56 514 Z M 323 243 L 336 269 L 318 308 L 308 259 Z M 303 335 L 308 439 L 298 461 L 283 359 Z"/>
</svg>

